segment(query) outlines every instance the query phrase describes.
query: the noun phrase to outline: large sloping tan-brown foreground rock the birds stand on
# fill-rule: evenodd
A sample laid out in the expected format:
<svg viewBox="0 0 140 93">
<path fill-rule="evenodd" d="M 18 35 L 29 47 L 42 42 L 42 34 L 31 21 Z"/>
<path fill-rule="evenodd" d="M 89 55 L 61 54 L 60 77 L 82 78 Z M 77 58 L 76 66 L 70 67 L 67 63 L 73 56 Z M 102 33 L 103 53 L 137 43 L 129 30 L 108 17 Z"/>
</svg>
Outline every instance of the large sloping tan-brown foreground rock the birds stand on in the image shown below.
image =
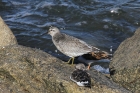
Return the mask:
<svg viewBox="0 0 140 93">
<path fill-rule="evenodd" d="M 16 42 L 0 48 L 0 93 L 131 93 L 95 70 L 89 71 L 91 88 L 79 87 L 69 79 L 73 71 L 42 50 Z"/>
</svg>

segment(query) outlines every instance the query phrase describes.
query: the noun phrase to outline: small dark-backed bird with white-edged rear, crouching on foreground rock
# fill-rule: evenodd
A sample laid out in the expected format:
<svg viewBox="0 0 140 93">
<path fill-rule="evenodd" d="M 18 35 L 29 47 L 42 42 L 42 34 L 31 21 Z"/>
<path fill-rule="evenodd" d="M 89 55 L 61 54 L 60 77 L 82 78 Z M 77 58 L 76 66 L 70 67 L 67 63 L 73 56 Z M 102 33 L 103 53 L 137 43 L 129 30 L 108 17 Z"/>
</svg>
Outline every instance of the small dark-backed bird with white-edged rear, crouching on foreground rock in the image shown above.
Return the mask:
<svg viewBox="0 0 140 93">
<path fill-rule="evenodd" d="M 91 78 L 87 73 L 84 64 L 77 64 L 76 69 L 72 72 L 70 79 L 77 83 L 78 86 L 85 86 L 91 88 Z"/>
</svg>

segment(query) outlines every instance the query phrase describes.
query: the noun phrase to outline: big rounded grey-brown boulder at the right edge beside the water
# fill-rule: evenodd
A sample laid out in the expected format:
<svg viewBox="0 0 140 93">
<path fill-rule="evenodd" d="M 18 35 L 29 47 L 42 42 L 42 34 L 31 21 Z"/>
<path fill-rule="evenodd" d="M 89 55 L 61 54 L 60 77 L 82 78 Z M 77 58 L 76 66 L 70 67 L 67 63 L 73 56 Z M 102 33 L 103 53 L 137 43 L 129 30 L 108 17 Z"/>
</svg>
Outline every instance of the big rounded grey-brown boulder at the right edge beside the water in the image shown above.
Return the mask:
<svg viewBox="0 0 140 93">
<path fill-rule="evenodd" d="M 109 68 L 113 81 L 140 93 L 140 28 L 120 44 Z"/>
</svg>

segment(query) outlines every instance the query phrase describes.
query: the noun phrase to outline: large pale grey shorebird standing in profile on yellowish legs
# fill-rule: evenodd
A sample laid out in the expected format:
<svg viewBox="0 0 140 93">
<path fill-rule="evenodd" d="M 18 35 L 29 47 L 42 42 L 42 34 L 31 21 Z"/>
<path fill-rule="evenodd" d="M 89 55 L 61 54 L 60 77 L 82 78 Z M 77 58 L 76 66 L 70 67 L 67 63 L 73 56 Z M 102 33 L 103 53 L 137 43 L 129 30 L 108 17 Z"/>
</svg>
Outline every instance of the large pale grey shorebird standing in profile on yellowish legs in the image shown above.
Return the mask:
<svg viewBox="0 0 140 93">
<path fill-rule="evenodd" d="M 61 33 L 57 27 L 51 26 L 48 30 L 48 34 L 52 36 L 52 41 L 56 48 L 63 54 L 71 57 L 68 60 L 68 63 L 70 63 L 72 60 L 73 64 L 74 58 L 77 56 L 81 56 L 90 52 L 97 54 L 100 51 L 100 49 L 93 47 L 76 37 Z"/>
</svg>

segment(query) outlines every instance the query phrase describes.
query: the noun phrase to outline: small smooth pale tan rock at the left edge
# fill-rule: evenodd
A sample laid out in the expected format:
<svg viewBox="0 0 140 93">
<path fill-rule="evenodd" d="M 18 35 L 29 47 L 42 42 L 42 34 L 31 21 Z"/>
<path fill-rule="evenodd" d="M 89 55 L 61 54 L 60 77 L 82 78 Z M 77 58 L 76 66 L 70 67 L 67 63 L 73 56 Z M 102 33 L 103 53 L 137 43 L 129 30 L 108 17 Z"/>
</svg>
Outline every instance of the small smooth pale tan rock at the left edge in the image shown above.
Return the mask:
<svg viewBox="0 0 140 93">
<path fill-rule="evenodd" d="M 5 24 L 5 22 L 0 17 L 0 48 L 17 44 L 17 40 L 13 35 L 10 28 Z"/>
</svg>

